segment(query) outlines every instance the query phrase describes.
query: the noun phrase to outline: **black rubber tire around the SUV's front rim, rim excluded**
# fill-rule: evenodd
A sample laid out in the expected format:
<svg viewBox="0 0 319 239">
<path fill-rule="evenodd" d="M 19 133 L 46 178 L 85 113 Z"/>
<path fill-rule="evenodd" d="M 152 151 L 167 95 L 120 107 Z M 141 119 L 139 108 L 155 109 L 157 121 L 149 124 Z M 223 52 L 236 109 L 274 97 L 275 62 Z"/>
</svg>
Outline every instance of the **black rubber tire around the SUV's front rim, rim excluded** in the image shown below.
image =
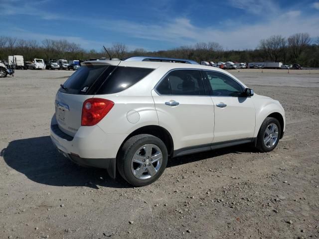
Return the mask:
<svg viewBox="0 0 319 239">
<path fill-rule="evenodd" d="M 265 135 L 265 131 L 267 129 L 267 126 L 270 125 L 271 123 L 276 124 L 278 127 L 278 138 L 277 138 L 274 145 L 272 145 L 271 147 L 267 147 L 264 143 L 264 135 Z M 258 136 L 257 136 L 256 148 L 261 152 L 270 152 L 270 151 L 274 150 L 274 148 L 276 148 L 280 137 L 281 137 L 281 125 L 280 125 L 278 119 L 275 119 L 272 117 L 267 117 L 260 126 Z"/>
</svg>

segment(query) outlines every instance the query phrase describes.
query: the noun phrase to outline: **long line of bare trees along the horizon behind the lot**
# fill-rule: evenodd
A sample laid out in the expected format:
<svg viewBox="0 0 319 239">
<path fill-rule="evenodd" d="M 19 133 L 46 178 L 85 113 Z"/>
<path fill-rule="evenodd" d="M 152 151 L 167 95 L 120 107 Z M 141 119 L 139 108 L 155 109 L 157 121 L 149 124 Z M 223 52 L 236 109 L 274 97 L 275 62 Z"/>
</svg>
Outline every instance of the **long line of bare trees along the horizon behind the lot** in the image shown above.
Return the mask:
<svg viewBox="0 0 319 239">
<path fill-rule="evenodd" d="M 312 40 L 308 33 L 296 33 L 285 38 L 273 35 L 262 39 L 256 49 L 224 50 L 217 42 L 199 42 L 194 45 L 180 46 L 168 50 L 147 51 L 144 48 L 128 50 L 123 43 L 113 43 L 107 47 L 113 58 L 130 56 L 158 56 L 185 58 L 200 62 L 204 61 L 236 61 L 263 62 L 281 61 L 284 64 L 298 63 L 305 67 L 319 67 L 319 38 Z M 9 55 L 23 55 L 25 61 L 34 58 L 89 60 L 92 58 L 108 58 L 105 50 L 84 50 L 80 44 L 67 40 L 45 39 L 24 40 L 16 37 L 0 36 L 0 59 L 7 59 Z"/>
</svg>

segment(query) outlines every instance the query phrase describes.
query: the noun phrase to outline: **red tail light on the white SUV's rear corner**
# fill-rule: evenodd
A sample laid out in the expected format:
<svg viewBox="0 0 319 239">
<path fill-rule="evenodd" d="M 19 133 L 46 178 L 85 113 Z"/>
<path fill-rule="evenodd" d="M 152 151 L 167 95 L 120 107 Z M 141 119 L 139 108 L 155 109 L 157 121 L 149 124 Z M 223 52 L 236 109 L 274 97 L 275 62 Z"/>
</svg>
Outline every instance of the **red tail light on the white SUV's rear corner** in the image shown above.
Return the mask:
<svg viewBox="0 0 319 239">
<path fill-rule="evenodd" d="M 113 101 L 100 98 L 87 99 L 82 108 L 82 126 L 92 126 L 100 122 L 114 106 Z"/>
</svg>

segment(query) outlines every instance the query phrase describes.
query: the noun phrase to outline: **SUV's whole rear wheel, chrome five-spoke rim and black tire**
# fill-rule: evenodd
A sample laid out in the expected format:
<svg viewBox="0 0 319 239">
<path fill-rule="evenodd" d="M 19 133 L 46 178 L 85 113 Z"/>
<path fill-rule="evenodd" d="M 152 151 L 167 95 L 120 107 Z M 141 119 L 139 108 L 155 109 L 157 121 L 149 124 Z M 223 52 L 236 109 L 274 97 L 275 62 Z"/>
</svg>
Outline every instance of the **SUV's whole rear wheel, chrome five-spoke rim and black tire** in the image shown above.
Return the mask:
<svg viewBox="0 0 319 239">
<path fill-rule="evenodd" d="M 167 159 L 163 141 L 151 134 L 139 134 L 124 143 L 118 155 L 117 168 L 128 183 L 141 187 L 160 177 Z"/>
</svg>

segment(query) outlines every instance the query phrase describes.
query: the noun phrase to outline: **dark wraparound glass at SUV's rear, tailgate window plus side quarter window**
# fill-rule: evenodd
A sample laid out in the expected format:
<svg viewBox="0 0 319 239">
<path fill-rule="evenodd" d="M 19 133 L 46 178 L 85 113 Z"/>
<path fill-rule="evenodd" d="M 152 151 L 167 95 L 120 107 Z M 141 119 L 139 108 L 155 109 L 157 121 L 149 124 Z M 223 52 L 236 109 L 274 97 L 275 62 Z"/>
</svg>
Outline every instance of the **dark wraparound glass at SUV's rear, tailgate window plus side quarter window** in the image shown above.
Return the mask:
<svg viewBox="0 0 319 239">
<path fill-rule="evenodd" d="M 154 69 L 84 65 L 73 73 L 60 92 L 79 95 L 104 95 L 121 92 L 142 80 Z"/>
</svg>

